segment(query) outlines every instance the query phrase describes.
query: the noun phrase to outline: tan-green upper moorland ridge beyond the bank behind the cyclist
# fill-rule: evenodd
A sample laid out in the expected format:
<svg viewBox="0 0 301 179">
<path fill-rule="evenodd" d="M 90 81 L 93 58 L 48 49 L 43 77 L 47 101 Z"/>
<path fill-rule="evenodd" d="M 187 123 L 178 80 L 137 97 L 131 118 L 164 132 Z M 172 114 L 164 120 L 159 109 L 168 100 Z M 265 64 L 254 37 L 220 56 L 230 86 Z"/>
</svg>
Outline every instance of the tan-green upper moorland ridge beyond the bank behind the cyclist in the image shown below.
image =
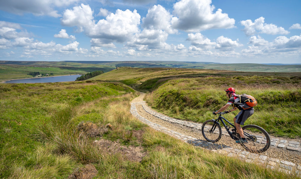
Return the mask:
<svg viewBox="0 0 301 179">
<path fill-rule="evenodd" d="M 274 72 L 235 72 L 235 71 L 225 71 L 225 70 L 212 70 L 212 69 L 170 69 L 170 68 L 131 68 L 131 67 L 120 67 L 114 69 L 110 72 L 95 76 L 94 80 L 108 80 L 108 81 L 122 81 L 122 80 L 132 80 L 132 82 L 146 82 L 147 80 L 160 80 L 163 78 L 195 78 L 195 77 L 207 77 L 207 76 L 219 76 L 226 77 L 231 76 L 235 78 L 241 78 L 240 81 L 245 80 L 246 77 L 254 76 L 252 80 L 256 81 L 256 78 L 262 76 L 269 76 L 270 78 L 265 79 L 264 82 L 268 80 L 274 80 L 277 78 L 288 77 L 295 78 L 293 80 L 298 81 L 301 73 L 274 73 Z M 274 78 L 275 77 L 275 78 Z M 277 79 L 281 82 L 282 79 Z M 278 81 L 273 83 L 279 83 Z"/>
</svg>

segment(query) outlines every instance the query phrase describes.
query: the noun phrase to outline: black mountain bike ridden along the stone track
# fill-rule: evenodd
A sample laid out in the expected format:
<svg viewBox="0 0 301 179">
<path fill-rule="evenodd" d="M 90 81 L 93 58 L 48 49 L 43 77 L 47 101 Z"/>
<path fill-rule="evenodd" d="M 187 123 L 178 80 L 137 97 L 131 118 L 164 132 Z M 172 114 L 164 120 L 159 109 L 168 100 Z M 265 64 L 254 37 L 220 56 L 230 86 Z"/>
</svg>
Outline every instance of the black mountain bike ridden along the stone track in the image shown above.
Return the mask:
<svg viewBox="0 0 301 179">
<path fill-rule="evenodd" d="M 230 137 L 234 140 L 239 140 L 240 135 L 236 132 L 235 126 L 229 122 L 227 119 L 223 118 L 222 115 L 226 114 L 225 112 L 217 113 L 219 117 L 217 119 L 207 120 L 202 125 L 202 134 L 204 138 L 212 143 L 219 141 L 222 137 L 222 122 L 226 131 Z M 229 125 L 226 125 L 226 121 Z M 230 131 L 230 125 L 234 128 Z M 262 153 L 270 147 L 271 139 L 267 131 L 257 125 L 245 125 L 242 127 L 244 131 L 244 136 L 247 139 L 247 143 L 240 143 L 247 151 L 252 153 Z"/>
</svg>

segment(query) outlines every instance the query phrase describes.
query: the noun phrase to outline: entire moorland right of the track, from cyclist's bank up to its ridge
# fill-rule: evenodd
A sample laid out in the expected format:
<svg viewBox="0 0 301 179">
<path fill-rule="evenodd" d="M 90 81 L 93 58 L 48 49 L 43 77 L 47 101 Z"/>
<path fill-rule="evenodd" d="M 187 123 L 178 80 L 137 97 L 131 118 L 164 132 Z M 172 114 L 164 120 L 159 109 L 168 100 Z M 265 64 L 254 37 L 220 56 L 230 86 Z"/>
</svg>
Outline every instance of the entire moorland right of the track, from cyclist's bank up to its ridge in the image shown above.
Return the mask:
<svg viewBox="0 0 301 179">
<path fill-rule="evenodd" d="M 119 68 L 94 79 L 115 80 L 149 91 L 146 100 L 153 108 L 195 122 L 212 119 L 212 111 L 227 102 L 224 90 L 234 87 L 237 94 L 250 94 L 259 103 L 245 124 L 259 125 L 275 136 L 301 136 L 300 73 Z M 237 113 L 226 117 L 233 119 Z"/>
</svg>

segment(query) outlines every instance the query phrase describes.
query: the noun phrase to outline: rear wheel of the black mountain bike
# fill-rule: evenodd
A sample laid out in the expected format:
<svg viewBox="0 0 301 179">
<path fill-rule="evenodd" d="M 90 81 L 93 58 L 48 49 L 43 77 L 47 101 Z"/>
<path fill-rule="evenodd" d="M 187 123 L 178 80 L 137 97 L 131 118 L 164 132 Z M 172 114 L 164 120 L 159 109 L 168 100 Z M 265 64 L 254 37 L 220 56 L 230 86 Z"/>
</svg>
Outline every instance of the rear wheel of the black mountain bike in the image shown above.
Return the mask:
<svg viewBox="0 0 301 179">
<path fill-rule="evenodd" d="M 270 147 L 271 139 L 268 132 L 257 125 L 245 125 L 242 127 L 247 143 L 241 145 L 252 153 L 262 153 Z"/>
</svg>

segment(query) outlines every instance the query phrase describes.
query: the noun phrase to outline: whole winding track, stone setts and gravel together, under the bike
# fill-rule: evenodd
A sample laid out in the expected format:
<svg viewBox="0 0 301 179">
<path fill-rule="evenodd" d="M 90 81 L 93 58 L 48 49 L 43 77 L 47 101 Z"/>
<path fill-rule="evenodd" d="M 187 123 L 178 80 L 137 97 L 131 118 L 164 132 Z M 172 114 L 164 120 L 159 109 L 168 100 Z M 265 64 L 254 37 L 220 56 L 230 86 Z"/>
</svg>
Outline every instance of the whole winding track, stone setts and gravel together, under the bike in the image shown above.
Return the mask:
<svg viewBox="0 0 301 179">
<path fill-rule="evenodd" d="M 222 131 L 223 136 L 218 143 L 207 142 L 201 134 L 202 124 L 182 121 L 157 113 L 143 101 L 144 95 L 145 93 L 141 93 L 139 97 L 132 101 L 130 112 L 155 130 L 169 134 L 196 147 L 203 147 L 213 152 L 237 157 L 247 162 L 255 162 L 267 168 L 275 168 L 301 177 L 301 146 L 299 140 L 290 141 L 271 136 L 271 147 L 266 152 L 261 153 L 262 155 L 245 151 L 240 145 L 235 144 L 235 141 L 229 137 L 226 131 Z"/>
</svg>

